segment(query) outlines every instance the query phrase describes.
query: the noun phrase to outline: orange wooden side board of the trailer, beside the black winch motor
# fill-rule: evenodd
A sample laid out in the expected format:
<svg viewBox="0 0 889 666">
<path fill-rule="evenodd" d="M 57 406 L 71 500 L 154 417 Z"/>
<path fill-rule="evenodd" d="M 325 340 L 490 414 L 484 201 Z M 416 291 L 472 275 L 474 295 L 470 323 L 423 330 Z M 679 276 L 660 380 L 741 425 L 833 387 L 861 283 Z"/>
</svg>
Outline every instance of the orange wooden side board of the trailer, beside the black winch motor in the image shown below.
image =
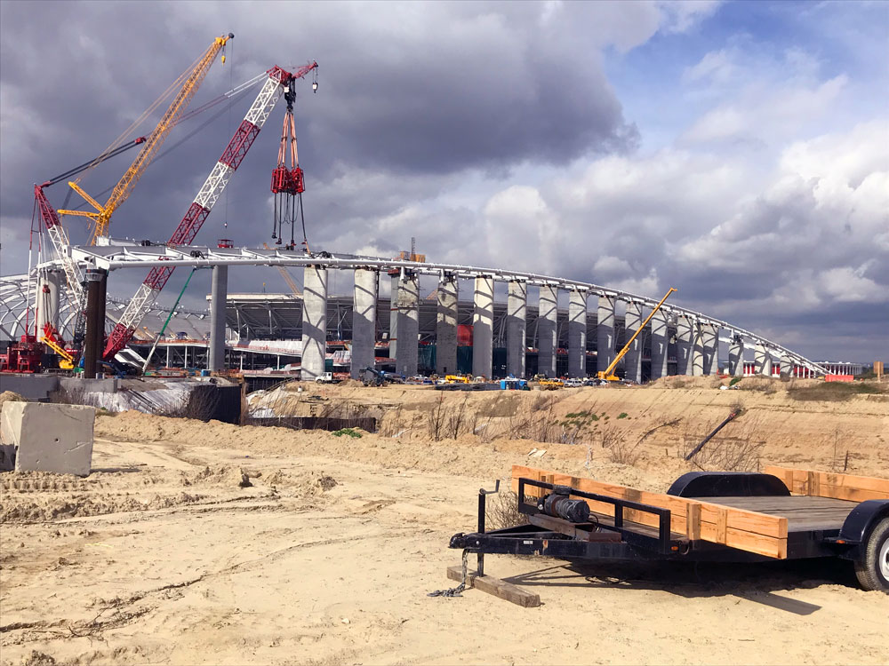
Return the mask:
<svg viewBox="0 0 889 666">
<path fill-rule="evenodd" d="M 756 552 L 767 557 L 784 559 L 787 557 L 787 518 L 770 516 L 757 511 L 723 507 L 715 503 L 702 502 L 686 497 L 651 493 L 637 488 L 628 488 L 613 483 L 592 479 L 581 479 L 568 474 L 538 470 L 524 465 L 513 465 L 512 487 L 518 488 L 518 478 L 542 480 L 597 495 L 650 504 L 670 511 L 670 529 L 679 534 L 688 535 L 698 532 L 703 541 L 724 543 L 742 551 Z M 551 479 L 551 481 L 550 481 Z M 530 489 L 528 487 L 525 487 Z M 526 494 L 527 490 L 526 490 Z M 613 516 L 613 505 L 595 500 L 587 500 L 591 511 Z M 689 526 L 689 507 L 700 507 L 700 527 Z M 692 509 L 693 522 L 698 509 Z M 625 519 L 650 527 L 658 527 L 659 519 L 653 513 L 645 511 L 624 511 Z"/>
</svg>

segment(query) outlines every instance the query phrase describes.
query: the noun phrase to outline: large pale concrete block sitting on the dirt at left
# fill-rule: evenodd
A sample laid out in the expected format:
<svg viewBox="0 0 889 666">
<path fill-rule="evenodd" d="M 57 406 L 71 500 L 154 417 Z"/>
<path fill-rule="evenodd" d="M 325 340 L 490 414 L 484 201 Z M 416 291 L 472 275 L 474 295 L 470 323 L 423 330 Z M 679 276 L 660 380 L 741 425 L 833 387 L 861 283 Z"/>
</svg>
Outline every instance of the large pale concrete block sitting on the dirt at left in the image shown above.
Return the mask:
<svg viewBox="0 0 889 666">
<path fill-rule="evenodd" d="M 92 407 L 6 402 L 0 438 L 16 448 L 16 472 L 89 476 L 95 420 Z"/>
</svg>

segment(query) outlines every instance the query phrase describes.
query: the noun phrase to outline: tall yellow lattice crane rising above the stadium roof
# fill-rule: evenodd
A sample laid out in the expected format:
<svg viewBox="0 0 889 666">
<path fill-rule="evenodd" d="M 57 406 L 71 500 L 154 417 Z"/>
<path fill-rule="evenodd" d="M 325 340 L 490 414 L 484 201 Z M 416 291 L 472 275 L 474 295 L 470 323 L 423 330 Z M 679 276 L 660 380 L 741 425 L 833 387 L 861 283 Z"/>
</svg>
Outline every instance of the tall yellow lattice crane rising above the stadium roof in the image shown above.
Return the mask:
<svg viewBox="0 0 889 666">
<path fill-rule="evenodd" d="M 114 190 L 111 192 L 111 196 L 108 197 L 108 201 L 105 202 L 105 205 L 101 205 L 95 199 L 92 198 L 89 194 L 86 194 L 81 186 L 77 184 L 76 181 L 69 181 L 68 185 L 77 193 L 84 197 L 84 201 L 89 203 L 94 209 L 95 212 L 89 210 L 59 210 L 62 215 L 76 215 L 81 218 L 91 218 L 92 219 L 92 229 L 90 232 L 90 245 L 96 244 L 96 239 L 99 236 L 107 236 L 108 229 L 110 227 L 111 214 L 120 206 L 123 202 L 126 201 L 127 197 L 132 194 L 133 187 L 136 186 L 136 183 L 141 178 L 142 174 L 148 168 L 148 164 L 151 163 L 152 160 L 157 155 L 157 152 L 160 150 L 160 147 L 164 144 L 164 139 L 167 138 L 167 135 L 172 130 L 172 126 L 175 125 L 181 115 L 185 112 L 185 109 L 188 107 L 188 103 L 194 98 L 197 89 L 200 87 L 201 83 L 204 82 L 204 77 L 207 75 L 207 72 L 210 70 L 210 66 L 213 63 L 213 60 L 216 59 L 217 54 L 220 51 L 223 51 L 225 48 L 226 42 L 229 39 L 234 38 L 232 33 L 228 33 L 228 35 L 223 35 L 220 37 L 216 37 L 213 40 L 213 43 L 210 47 L 198 58 L 195 63 L 192 64 L 191 67 L 183 72 L 179 78 L 177 78 L 173 83 L 170 84 L 170 87 L 164 91 L 159 98 L 157 98 L 145 112 L 140 115 L 140 117 L 132 123 L 127 131 L 124 131 L 116 141 L 109 146 L 105 152 L 102 153 L 98 158 L 96 158 L 94 164 L 98 164 L 102 161 L 102 157 L 107 155 L 112 150 L 116 149 L 120 145 L 120 143 L 126 139 L 126 137 L 135 129 L 135 127 L 140 124 L 149 114 L 151 114 L 156 107 L 160 106 L 161 102 L 164 99 L 170 96 L 172 91 L 174 91 L 177 87 L 180 87 L 179 92 L 176 94 L 176 97 L 173 98 L 170 107 L 167 108 L 164 116 L 161 118 L 160 122 L 157 123 L 154 131 L 148 135 L 148 138 L 145 139 L 145 146 L 140 150 L 139 155 L 137 155 L 136 159 L 130 165 L 130 168 L 126 170 L 123 178 L 121 178 L 117 185 L 114 187 Z M 222 62 L 225 63 L 225 54 L 222 55 Z"/>
</svg>

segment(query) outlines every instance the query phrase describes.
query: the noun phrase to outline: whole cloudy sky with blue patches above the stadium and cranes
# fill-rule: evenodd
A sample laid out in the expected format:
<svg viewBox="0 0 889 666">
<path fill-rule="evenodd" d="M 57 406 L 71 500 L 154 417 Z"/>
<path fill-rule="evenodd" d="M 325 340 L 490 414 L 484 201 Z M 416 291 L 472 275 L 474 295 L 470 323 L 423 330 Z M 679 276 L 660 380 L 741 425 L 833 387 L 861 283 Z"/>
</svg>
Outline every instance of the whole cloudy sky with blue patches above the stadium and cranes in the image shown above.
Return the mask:
<svg viewBox="0 0 889 666">
<path fill-rule="evenodd" d="M 296 104 L 313 248 L 390 256 L 416 236 L 440 261 L 651 297 L 675 286 L 677 303 L 810 358 L 887 355 L 886 2 L 7 0 L 3 274 L 27 266 L 32 184 L 98 155 L 228 31 L 192 107 L 275 64 L 320 65 L 318 93 L 302 82 Z M 176 128 L 112 234 L 166 240 L 254 94 Z M 198 242 L 270 242 L 283 114 Z M 134 156 L 81 185 L 99 194 Z M 57 207 L 68 194 L 47 192 Z M 84 241 L 76 218 L 68 228 Z M 236 279 L 284 290 L 269 269 Z M 110 289 L 140 280 L 118 272 Z M 208 283 L 193 281 L 193 304 Z"/>
</svg>

